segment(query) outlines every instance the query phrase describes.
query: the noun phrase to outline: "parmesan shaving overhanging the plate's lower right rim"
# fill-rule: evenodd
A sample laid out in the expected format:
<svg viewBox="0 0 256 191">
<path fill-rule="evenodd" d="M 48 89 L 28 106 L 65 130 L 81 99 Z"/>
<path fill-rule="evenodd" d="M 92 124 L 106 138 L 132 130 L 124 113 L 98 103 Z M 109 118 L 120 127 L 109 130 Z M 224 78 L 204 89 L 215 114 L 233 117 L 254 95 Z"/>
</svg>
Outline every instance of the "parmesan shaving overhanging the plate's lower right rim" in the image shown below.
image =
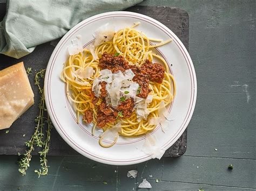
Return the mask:
<svg viewBox="0 0 256 191">
<path fill-rule="evenodd" d="M 146 135 L 142 151 L 146 154 L 150 154 L 152 159 L 158 158 L 160 160 L 161 157 L 163 157 L 165 150 L 160 148 L 158 143 L 156 136 L 150 134 Z"/>
</svg>

